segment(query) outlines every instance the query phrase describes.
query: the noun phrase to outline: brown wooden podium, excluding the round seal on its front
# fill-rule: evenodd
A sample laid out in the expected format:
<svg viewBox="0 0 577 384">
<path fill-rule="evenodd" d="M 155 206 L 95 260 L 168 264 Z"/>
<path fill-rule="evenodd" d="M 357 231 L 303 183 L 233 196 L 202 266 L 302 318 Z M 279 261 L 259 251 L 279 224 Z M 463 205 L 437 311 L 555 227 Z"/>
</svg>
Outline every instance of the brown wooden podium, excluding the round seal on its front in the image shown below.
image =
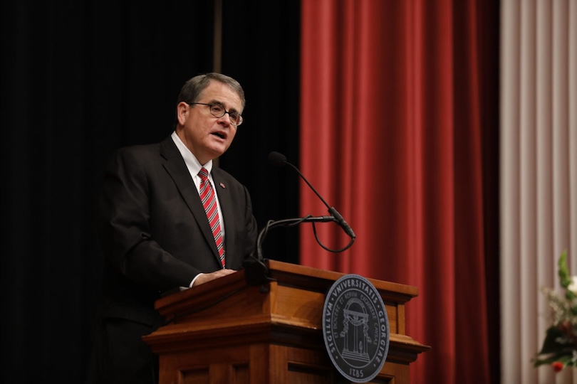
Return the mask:
<svg viewBox="0 0 577 384">
<path fill-rule="evenodd" d="M 325 295 L 342 273 L 267 260 L 266 284 L 239 271 L 159 299 L 167 319 L 144 340 L 160 356 L 160 384 L 350 383 L 322 334 Z M 389 349 L 370 383 L 409 383 L 409 364 L 430 347 L 405 334 L 405 303 L 417 288 L 368 279 L 387 310 Z"/>
</svg>

